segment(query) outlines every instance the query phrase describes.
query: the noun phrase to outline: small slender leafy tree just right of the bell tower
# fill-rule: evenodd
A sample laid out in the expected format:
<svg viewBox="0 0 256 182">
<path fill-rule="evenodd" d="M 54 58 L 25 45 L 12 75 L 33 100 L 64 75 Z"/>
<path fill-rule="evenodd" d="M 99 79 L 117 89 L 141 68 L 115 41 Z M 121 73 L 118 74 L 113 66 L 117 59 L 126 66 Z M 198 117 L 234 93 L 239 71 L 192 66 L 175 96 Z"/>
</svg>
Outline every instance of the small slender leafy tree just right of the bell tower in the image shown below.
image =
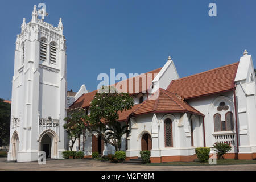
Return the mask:
<svg viewBox="0 0 256 182">
<path fill-rule="evenodd" d="M 71 151 L 76 142 L 76 139 L 77 138 L 80 139 L 80 136 L 85 129 L 85 122 L 82 119 L 84 118 L 84 115 L 85 115 L 85 109 L 83 109 L 82 107 L 77 107 L 75 109 L 68 109 L 67 117 L 64 118 L 64 120 L 67 121 L 67 123 L 65 123 L 63 127 L 67 131 L 68 138 L 72 142 L 71 145 L 69 146 L 69 149 Z"/>
</svg>

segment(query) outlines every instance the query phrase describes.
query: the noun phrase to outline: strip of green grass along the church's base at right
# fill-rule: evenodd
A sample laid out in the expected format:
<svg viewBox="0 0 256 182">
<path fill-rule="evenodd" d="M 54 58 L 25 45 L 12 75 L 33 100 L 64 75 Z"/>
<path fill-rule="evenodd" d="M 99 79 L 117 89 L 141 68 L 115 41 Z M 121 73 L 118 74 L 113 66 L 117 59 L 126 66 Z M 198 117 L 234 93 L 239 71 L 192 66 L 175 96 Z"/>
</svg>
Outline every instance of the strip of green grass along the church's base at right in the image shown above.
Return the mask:
<svg viewBox="0 0 256 182">
<path fill-rule="evenodd" d="M 238 160 L 238 159 L 217 159 L 217 165 L 234 165 L 234 164 L 256 164 L 256 160 Z M 167 162 L 167 163 L 150 163 L 144 164 L 150 166 L 209 166 L 208 162 L 200 163 L 199 160 L 193 162 Z"/>
</svg>

